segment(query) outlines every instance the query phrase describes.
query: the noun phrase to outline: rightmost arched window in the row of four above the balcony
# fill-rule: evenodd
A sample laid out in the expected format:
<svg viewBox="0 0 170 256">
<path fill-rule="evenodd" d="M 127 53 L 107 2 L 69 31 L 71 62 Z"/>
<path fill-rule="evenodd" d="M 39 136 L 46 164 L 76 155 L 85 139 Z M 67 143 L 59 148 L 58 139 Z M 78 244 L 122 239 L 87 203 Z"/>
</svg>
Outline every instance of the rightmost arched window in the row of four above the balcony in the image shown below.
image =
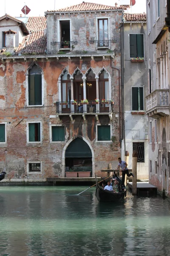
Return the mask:
<svg viewBox="0 0 170 256">
<path fill-rule="evenodd" d="M 109 76 L 108 73 L 103 70 L 99 76 L 99 100 L 109 100 Z"/>
</svg>

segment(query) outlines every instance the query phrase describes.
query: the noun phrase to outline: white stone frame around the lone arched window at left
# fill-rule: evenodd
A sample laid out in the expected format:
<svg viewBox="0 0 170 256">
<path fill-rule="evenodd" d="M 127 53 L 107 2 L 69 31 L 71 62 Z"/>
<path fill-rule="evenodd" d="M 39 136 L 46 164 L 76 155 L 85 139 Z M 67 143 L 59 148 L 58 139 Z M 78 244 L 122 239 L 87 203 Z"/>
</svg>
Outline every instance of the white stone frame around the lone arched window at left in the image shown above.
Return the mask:
<svg viewBox="0 0 170 256">
<path fill-rule="evenodd" d="M 38 68 L 41 70 L 41 84 L 42 84 L 42 105 L 29 105 L 29 93 L 28 93 L 28 87 L 29 87 L 29 70 L 35 65 L 37 65 Z M 42 107 L 44 106 L 44 72 L 42 68 L 34 61 L 30 67 L 28 67 L 27 72 L 26 72 L 26 106 L 30 108 L 35 108 L 35 107 Z"/>
</svg>

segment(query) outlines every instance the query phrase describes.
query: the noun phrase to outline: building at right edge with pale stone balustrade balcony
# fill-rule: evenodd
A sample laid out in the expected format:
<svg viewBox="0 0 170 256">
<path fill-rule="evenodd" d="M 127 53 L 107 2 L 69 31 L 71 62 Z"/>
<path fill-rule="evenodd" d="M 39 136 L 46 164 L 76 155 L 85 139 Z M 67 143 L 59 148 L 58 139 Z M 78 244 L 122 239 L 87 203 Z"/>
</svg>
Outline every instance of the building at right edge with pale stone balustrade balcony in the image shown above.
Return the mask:
<svg viewBox="0 0 170 256">
<path fill-rule="evenodd" d="M 169 5 L 167 0 L 147 1 L 149 180 L 167 196 L 170 196 Z"/>
</svg>

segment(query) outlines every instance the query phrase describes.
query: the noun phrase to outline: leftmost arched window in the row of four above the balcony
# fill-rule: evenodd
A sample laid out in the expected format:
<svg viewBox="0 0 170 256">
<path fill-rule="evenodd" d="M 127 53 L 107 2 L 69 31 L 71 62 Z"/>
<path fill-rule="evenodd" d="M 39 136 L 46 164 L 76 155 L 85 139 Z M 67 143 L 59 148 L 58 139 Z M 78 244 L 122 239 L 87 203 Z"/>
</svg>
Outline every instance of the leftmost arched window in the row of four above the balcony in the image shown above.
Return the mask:
<svg viewBox="0 0 170 256">
<path fill-rule="evenodd" d="M 71 101 L 71 80 L 68 71 L 65 71 L 62 76 L 62 102 Z"/>
</svg>

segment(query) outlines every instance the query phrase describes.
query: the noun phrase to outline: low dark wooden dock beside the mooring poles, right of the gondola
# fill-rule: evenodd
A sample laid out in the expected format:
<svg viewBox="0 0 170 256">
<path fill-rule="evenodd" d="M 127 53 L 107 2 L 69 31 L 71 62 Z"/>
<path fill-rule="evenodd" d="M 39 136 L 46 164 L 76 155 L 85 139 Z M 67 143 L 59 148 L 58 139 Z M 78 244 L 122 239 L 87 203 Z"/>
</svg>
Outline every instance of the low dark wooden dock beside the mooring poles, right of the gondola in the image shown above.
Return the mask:
<svg viewBox="0 0 170 256">
<path fill-rule="evenodd" d="M 127 183 L 128 190 L 132 192 L 132 182 Z M 148 182 L 137 182 L 137 195 L 157 195 L 157 188 Z"/>
</svg>

